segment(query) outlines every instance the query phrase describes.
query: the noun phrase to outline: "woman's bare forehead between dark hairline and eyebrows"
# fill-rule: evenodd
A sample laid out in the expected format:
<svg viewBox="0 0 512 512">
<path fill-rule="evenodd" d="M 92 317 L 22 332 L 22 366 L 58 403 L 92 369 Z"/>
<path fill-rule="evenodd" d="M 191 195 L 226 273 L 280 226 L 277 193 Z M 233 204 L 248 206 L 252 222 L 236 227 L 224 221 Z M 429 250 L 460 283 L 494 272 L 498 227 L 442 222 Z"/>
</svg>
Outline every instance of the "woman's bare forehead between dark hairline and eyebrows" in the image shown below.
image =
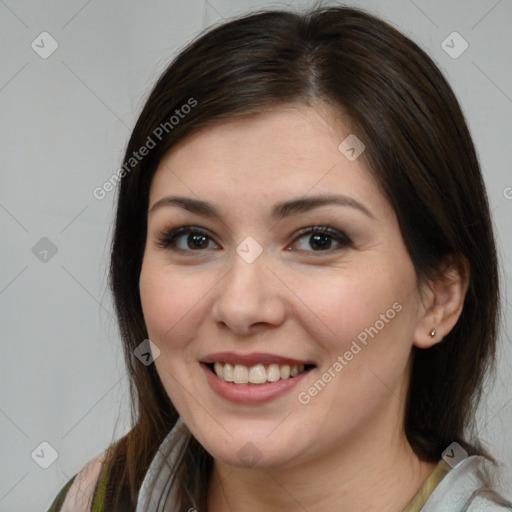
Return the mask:
<svg viewBox="0 0 512 512">
<path fill-rule="evenodd" d="M 179 141 L 153 177 L 150 204 L 169 193 L 220 202 L 276 202 L 336 190 L 361 201 L 384 200 L 364 153 L 350 161 L 340 143 L 348 116 L 324 104 L 281 105 L 223 121 Z"/>
</svg>

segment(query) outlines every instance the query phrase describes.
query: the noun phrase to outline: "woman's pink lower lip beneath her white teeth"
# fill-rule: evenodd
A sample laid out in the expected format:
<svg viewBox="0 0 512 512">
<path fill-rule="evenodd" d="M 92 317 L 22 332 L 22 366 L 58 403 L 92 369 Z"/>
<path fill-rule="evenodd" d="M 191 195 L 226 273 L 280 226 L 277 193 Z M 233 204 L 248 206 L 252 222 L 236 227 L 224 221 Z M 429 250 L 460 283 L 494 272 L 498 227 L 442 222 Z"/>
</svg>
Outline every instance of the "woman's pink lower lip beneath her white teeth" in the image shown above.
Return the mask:
<svg viewBox="0 0 512 512">
<path fill-rule="evenodd" d="M 222 398 L 238 404 L 260 404 L 274 400 L 291 391 L 313 369 L 302 372 L 297 377 L 280 379 L 266 384 L 234 384 L 217 377 L 204 363 L 201 363 L 200 366 L 213 391 Z"/>
</svg>

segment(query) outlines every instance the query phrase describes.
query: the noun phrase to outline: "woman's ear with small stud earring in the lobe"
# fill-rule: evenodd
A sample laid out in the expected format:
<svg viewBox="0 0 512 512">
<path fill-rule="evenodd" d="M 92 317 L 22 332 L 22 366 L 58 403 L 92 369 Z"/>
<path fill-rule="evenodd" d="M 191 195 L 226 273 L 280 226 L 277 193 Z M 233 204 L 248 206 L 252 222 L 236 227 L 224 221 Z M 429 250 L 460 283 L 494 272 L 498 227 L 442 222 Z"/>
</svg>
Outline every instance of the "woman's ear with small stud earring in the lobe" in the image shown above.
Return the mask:
<svg viewBox="0 0 512 512">
<path fill-rule="evenodd" d="M 423 284 L 423 307 L 414 331 L 416 347 L 430 348 L 453 329 L 462 313 L 468 286 L 469 265 L 463 257 L 449 257 L 438 278 Z"/>
</svg>

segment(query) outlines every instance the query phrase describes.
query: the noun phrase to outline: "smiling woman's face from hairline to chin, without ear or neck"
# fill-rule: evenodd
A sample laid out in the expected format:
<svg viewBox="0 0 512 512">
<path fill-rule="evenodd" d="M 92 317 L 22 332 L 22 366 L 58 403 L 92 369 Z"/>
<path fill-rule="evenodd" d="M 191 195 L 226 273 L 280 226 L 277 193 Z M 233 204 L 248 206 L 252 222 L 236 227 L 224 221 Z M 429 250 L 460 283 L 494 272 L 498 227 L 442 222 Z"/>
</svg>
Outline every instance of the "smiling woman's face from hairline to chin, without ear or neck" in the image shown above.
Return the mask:
<svg viewBox="0 0 512 512">
<path fill-rule="evenodd" d="M 291 467 L 402 435 L 426 313 L 364 153 L 338 147 L 349 134 L 324 106 L 280 106 L 183 140 L 152 181 L 140 293 L 156 369 L 223 463 Z"/>
</svg>

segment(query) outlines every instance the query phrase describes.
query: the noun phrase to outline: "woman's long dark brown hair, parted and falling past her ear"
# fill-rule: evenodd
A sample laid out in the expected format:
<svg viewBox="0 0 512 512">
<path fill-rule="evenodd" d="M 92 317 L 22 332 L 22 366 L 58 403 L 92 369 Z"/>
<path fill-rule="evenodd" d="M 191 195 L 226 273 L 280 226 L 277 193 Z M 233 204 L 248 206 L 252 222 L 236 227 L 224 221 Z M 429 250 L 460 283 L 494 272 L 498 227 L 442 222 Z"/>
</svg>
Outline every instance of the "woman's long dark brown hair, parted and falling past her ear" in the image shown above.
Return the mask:
<svg viewBox="0 0 512 512">
<path fill-rule="evenodd" d="M 194 101 L 171 126 L 176 109 Z M 424 461 L 439 460 L 453 441 L 489 456 L 467 436 L 495 358 L 497 259 L 479 163 L 454 93 L 424 51 L 364 11 L 264 10 L 206 31 L 179 53 L 150 93 L 126 149 L 129 172 L 119 186 L 109 278 L 130 377 L 133 427 L 107 452 L 106 510 L 135 509 L 149 464 L 178 418 L 155 366 L 134 357 L 148 337 L 138 282 L 149 187 L 159 162 L 200 128 L 277 104 L 317 101 L 354 122 L 418 278 L 434 277 L 450 255 L 469 265 L 458 323 L 441 343 L 413 348 L 408 441 Z M 155 147 L 130 160 L 149 139 Z M 207 509 L 211 468 L 211 456 L 190 439 L 177 471 L 183 510 Z"/>
</svg>

